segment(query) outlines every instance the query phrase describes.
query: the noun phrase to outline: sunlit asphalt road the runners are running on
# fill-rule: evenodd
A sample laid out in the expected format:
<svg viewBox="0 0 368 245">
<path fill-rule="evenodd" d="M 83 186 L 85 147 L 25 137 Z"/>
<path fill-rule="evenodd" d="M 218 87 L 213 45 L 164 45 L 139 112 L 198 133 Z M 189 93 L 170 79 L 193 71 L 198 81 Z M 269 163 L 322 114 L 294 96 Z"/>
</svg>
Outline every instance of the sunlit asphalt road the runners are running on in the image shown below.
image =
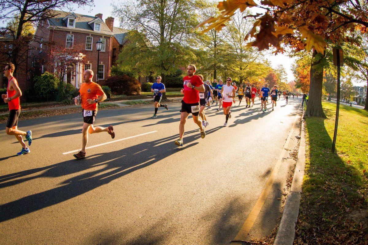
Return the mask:
<svg viewBox="0 0 368 245">
<path fill-rule="evenodd" d="M 20 144 L 0 133 L 0 244 L 229 244 L 265 188 L 300 102 L 281 100 L 262 113 L 258 98 L 252 108 L 243 101 L 228 127 L 212 107 L 204 139 L 188 118 L 183 147 L 174 145 L 178 103 L 159 108 L 156 119 L 152 105 L 102 110 L 95 125 L 113 125 L 114 140 L 127 139 L 88 149 L 81 160 L 63 154 L 81 147 L 81 114 L 20 121 L 33 132 L 30 154 L 14 156 Z M 92 134 L 88 146 L 110 141 Z M 296 147 L 292 136 L 290 152 Z M 283 160 L 250 238 L 275 227 L 293 164 Z"/>
</svg>

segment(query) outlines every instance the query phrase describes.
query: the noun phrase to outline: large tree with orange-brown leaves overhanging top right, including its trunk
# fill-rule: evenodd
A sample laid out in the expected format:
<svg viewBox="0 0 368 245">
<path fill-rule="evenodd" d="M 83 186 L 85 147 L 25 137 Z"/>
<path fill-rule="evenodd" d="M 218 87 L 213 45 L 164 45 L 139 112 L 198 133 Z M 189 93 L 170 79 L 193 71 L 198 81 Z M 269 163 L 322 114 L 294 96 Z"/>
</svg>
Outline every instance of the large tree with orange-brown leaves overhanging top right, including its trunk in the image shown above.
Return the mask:
<svg viewBox="0 0 368 245">
<path fill-rule="evenodd" d="M 209 24 L 204 31 L 220 30 L 238 9 L 243 12 L 248 7 L 259 7 L 266 11 L 248 16 L 256 18 L 249 33 L 254 38 L 250 46 L 259 50 L 274 46 L 282 52 L 283 44 L 286 44 L 294 51 L 312 50 L 306 115 L 325 117 L 321 99 L 325 47 L 327 42 L 336 46 L 350 40 L 348 32 L 367 31 L 367 0 L 263 0 L 260 4 L 253 0 L 227 0 L 217 7 L 222 11 L 221 15 L 203 21 L 200 26 Z"/>
</svg>

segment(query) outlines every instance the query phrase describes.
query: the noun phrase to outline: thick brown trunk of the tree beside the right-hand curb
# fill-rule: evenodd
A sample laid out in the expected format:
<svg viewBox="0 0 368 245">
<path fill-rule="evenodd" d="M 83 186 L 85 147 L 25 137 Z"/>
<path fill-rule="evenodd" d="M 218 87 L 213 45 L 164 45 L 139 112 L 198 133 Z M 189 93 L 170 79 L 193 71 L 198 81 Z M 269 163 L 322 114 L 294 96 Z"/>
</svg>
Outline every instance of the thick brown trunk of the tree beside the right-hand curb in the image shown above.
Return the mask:
<svg viewBox="0 0 368 245">
<path fill-rule="evenodd" d="M 311 83 L 309 86 L 309 98 L 307 103 L 306 116 L 317 116 L 326 118 L 322 109 L 322 85 L 323 85 L 323 62 L 325 55 L 313 51 L 311 64 Z"/>
</svg>

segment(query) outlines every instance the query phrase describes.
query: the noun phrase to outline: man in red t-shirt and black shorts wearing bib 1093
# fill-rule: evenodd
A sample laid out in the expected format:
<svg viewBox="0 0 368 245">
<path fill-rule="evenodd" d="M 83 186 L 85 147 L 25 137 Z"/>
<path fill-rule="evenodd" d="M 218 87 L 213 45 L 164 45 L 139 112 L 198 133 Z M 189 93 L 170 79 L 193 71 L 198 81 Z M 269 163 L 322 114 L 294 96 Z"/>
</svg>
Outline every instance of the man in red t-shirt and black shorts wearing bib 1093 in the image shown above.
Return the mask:
<svg viewBox="0 0 368 245">
<path fill-rule="evenodd" d="M 192 114 L 194 122 L 197 123 L 197 125 L 201 129 L 201 137 L 204 138 L 206 136 L 205 129 L 202 126 L 202 122 L 198 120 L 199 91 L 204 92 L 205 87 L 199 76 L 194 75 L 195 70 L 195 65 L 188 65 L 188 76 L 183 78 L 184 88 L 180 91 L 182 94 L 184 94 L 184 98 L 181 101 L 179 139 L 175 141 L 175 144 L 178 146 L 183 146 L 184 127 L 189 114 Z"/>
</svg>

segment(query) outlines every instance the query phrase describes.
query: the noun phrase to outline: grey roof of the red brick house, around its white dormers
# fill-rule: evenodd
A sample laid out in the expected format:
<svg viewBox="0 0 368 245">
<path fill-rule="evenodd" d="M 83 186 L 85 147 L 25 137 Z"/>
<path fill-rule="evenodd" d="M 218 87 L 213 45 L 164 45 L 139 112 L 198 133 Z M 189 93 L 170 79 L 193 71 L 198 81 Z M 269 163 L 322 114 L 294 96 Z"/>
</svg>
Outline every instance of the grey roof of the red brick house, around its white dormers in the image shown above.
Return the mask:
<svg viewBox="0 0 368 245">
<path fill-rule="evenodd" d="M 107 25 L 105 24 L 105 22 L 101 23 L 101 31 L 97 32 L 94 31 L 92 29 L 92 27 L 88 24 L 88 22 L 93 21 L 95 19 L 97 19 L 98 17 L 94 17 L 94 16 L 89 16 L 89 15 L 84 15 L 84 14 L 75 14 L 77 15 L 77 18 L 75 19 L 75 28 L 68 28 L 66 25 L 66 22 L 63 21 L 63 18 L 72 14 L 69 12 L 65 12 L 65 11 L 59 11 L 59 10 L 52 10 L 52 15 L 56 16 L 54 18 L 50 18 L 49 19 L 49 23 L 50 26 L 57 26 L 59 28 L 65 28 L 68 30 L 83 30 L 83 31 L 90 31 L 90 32 L 95 32 L 100 33 L 100 34 L 106 34 L 106 35 L 114 35 L 114 33 L 107 27 Z"/>
</svg>

